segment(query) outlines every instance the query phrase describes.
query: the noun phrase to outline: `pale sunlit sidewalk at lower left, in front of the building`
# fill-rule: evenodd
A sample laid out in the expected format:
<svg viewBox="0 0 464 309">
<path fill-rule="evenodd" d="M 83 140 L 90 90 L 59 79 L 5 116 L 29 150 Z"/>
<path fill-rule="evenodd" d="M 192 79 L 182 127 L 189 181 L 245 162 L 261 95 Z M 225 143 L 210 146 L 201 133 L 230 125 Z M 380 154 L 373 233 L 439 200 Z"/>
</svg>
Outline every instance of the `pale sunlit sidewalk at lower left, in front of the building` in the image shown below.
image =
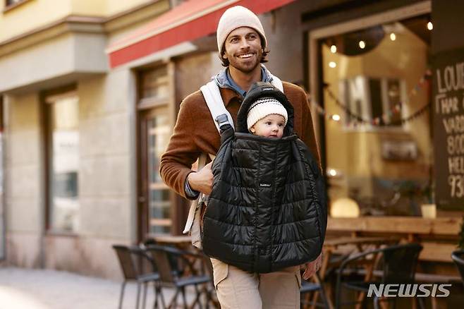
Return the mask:
<svg viewBox="0 0 464 309">
<path fill-rule="evenodd" d="M 118 308 L 121 283 L 122 279 L 112 281 L 50 269 L 1 267 L 0 309 Z M 135 308 L 136 294 L 136 285 L 128 283 L 123 308 Z M 149 286 L 146 308 L 153 308 L 153 294 L 153 288 Z M 163 294 L 167 301 L 173 291 L 163 289 Z M 189 298 L 193 299 L 192 295 Z"/>
</svg>

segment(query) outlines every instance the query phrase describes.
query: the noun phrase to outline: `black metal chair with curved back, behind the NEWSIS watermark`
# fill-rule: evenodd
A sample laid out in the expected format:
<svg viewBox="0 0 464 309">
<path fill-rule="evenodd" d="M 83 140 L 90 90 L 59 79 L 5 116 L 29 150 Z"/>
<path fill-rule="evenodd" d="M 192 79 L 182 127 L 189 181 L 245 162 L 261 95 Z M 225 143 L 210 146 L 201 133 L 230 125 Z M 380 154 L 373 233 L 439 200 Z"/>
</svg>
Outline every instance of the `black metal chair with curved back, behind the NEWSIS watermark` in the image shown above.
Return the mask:
<svg viewBox="0 0 464 309">
<path fill-rule="evenodd" d="M 341 303 L 341 288 L 351 289 L 358 292 L 367 293 L 370 284 L 412 284 L 415 282 L 415 270 L 417 266 L 417 259 L 422 246 L 418 243 L 408 243 L 405 245 L 389 246 L 379 248 L 376 250 L 369 250 L 357 255 L 353 255 L 344 260 L 337 271 L 336 281 L 336 308 L 341 305 L 353 304 Z M 380 279 L 377 281 L 342 281 L 342 276 L 350 272 L 358 272 L 358 269 L 348 269 L 348 265 L 356 263 L 360 265 L 359 261 L 365 259 L 366 263 L 371 263 L 372 269 L 381 265 L 383 271 L 379 272 Z M 395 301 L 396 298 L 393 298 Z M 374 308 L 379 308 L 379 298 L 374 296 Z M 413 298 L 414 301 L 414 298 Z M 358 302 L 355 302 L 358 303 Z M 422 307 L 423 303 L 419 303 Z"/>
</svg>

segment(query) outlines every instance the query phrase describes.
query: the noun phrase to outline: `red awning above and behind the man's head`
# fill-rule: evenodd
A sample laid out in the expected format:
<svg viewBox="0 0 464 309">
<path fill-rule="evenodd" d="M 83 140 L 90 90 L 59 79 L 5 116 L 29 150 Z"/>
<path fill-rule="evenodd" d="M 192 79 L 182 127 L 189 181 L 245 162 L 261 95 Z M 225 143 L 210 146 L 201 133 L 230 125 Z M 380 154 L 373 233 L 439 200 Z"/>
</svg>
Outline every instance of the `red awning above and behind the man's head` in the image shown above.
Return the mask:
<svg viewBox="0 0 464 309">
<path fill-rule="evenodd" d="M 111 68 L 159 52 L 176 44 L 216 32 L 222 13 L 231 6 L 245 6 L 256 14 L 266 13 L 295 0 L 190 0 L 159 16 L 152 23 L 112 44 Z"/>
</svg>

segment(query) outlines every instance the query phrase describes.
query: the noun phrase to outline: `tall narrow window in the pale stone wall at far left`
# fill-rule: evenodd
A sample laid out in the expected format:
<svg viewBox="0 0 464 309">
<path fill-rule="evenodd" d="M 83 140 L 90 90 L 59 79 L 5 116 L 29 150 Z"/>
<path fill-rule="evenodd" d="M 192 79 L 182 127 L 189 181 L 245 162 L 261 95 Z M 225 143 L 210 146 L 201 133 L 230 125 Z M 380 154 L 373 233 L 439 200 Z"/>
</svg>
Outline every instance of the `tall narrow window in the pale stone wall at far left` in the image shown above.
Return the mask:
<svg viewBox="0 0 464 309">
<path fill-rule="evenodd" d="M 48 201 L 51 231 L 79 226 L 79 99 L 74 93 L 47 97 Z"/>
</svg>

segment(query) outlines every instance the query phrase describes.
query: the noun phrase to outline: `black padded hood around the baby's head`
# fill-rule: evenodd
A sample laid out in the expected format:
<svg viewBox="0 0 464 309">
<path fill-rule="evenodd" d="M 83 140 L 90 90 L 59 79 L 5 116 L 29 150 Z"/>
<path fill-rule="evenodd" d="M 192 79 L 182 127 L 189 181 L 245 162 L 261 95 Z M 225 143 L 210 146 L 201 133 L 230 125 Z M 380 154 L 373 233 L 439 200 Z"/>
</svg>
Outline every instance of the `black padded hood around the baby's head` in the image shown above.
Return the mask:
<svg viewBox="0 0 464 309">
<path fill-rule="evenodd" d="M 250 133 L 247 126 L 248 109 L 253 102 L 261 97 L 273 97 L 281 102 L 283 107 L 287 110 L 288 120 L 285 128 L 283 128 L 283 136 L 293 134 L 293 106 L 288 101 L 287 97 L 271 83 L 258 82 L 254 83 L 248 91 L 245 99 L 240 106 L 237 114 L 237 128 L 238 133 Z"/>
</svg>

